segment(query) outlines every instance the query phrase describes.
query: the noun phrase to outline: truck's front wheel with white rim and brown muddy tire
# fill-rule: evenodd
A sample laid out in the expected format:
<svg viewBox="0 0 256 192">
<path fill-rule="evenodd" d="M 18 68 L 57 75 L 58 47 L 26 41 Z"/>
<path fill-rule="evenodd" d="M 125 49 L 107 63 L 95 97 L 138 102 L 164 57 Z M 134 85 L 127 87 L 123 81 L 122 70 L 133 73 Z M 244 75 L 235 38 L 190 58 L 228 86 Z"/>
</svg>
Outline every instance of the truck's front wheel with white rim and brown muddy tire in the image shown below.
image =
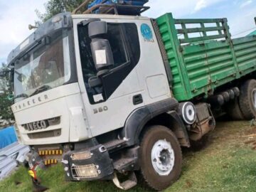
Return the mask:
<svg viewBox="0 0 256 192">
<path fill-rule="evenodd" d="M 181 146 L 167 127 L 149 127 L 141 142 L 139 159 L 143 180 L 156 191 L 164 190 L 181 175 Z"/>
</svg>

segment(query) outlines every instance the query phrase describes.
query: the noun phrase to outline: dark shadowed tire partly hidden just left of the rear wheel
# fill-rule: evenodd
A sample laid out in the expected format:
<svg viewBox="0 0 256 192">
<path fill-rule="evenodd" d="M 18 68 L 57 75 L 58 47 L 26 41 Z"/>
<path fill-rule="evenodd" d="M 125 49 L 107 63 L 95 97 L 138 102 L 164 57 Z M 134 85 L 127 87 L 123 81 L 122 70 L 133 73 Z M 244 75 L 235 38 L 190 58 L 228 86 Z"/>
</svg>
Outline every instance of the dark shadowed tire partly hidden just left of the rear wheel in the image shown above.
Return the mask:
<svg viewBox="0 0 256 192">
<path fill-rule="evenodd" d="M 228 112 L 228 115 L 233 120 L 237 120 L 237 121 L 245 120 L 245 117 L 242 114 L 242 111 L 240 109 L 238 97 L 235 97 L 234 100 L 228 103 L 228 105 L 226 106 L 226 111 Z"/>
</svg>

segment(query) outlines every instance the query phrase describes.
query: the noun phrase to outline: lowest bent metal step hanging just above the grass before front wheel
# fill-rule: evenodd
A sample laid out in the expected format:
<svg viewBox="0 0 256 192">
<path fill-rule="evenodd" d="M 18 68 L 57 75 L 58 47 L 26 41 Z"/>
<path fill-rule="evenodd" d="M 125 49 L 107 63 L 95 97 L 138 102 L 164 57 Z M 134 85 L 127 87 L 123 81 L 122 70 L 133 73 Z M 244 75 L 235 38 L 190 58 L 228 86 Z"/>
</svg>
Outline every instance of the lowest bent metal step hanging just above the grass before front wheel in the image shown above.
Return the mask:
<svg viewBox="0 0 256 192">
<path fill-rule="evenodd" d="M 117 173 L 114 173 L 113 183 L 118 188 L 121 188 L 122 190 L 127 191 L 130 188 L 133 188 L 134 186 L 137 185 L 137 177 L 134 174 L 134 171 L 132 171 L 129 174 L 127 181 L 120 183 L 119 179 L 117 178 Z"/>
</svg>

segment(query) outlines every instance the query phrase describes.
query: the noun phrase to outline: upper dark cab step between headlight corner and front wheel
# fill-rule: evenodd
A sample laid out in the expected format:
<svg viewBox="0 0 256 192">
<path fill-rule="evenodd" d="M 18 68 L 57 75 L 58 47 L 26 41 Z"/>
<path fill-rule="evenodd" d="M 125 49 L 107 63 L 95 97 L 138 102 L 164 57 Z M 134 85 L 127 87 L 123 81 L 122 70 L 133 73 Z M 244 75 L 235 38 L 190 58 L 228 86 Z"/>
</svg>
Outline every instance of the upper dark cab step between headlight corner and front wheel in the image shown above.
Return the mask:
<svg viewBox="0 0 256 192">
<path fill-rule="evenodd" d="M 114 161 L 114 169 L 117 170 L 119 173 L 124 173 L 125 171 L 134 169 L 137 160 L 137 157 L 119 159 L 117 161 Z"/>
</svg>

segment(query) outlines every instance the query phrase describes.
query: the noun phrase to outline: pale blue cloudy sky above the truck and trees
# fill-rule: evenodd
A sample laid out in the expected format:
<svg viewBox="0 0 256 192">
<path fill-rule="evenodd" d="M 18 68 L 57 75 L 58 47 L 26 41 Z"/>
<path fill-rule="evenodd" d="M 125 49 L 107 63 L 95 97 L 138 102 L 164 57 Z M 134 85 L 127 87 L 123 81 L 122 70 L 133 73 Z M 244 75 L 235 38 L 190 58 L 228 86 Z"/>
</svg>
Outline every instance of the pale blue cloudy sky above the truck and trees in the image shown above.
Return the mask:
<svg viewBox="0 0 256 192">
<path fill-rule="evenodd" d="M 6 63 L 11 50 L 33 33 L 28 25 L 38 19 L 36 9 L 44 12 L 47 1 L 0 0 L 0 63 Z M 256 29 L 256 0 L 149 0 L 146 5 L 151 9 L 144 16 L 152 18 L 167 12 L 173 13 L 174 18 L 228 18 L 234 38 Z"/>
</svg>

